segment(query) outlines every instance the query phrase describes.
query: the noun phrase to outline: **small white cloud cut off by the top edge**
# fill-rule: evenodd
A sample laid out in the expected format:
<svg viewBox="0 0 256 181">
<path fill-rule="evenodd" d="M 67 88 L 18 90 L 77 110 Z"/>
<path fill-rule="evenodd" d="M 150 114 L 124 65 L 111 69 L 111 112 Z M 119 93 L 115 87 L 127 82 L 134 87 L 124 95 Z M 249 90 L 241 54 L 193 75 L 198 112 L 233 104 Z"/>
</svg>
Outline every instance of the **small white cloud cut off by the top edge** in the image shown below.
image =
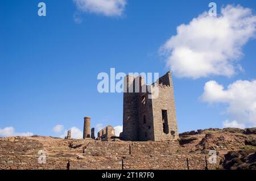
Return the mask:
<svg viewBox="0 0 256 181">
<path fill-rule="evenodd" d="M 73 0 L 77 9 L 105 16 L 121 16 L 126 0 Z"/>
</svg>

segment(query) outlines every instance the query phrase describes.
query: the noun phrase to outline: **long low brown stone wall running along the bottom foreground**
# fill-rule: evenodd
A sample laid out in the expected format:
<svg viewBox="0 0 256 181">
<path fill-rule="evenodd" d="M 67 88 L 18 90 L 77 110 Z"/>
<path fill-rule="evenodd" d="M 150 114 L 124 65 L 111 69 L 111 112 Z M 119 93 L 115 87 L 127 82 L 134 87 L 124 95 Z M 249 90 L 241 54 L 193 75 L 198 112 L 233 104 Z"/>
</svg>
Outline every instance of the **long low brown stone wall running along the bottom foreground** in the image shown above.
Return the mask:
<svg viewBox="0 0 256 181">
<path fill-rule="evenodd" d="M 205 170 L 217 169 L 210 164 L 205 155 L 85 155 L 80 159 L 47 157 L 46 164 L 39 164 L 35 156 L 2 156 L 0 169 L 5 170 L 127 170 L 127 169 L 164 169 L 164 170 Z"/>
</svg>

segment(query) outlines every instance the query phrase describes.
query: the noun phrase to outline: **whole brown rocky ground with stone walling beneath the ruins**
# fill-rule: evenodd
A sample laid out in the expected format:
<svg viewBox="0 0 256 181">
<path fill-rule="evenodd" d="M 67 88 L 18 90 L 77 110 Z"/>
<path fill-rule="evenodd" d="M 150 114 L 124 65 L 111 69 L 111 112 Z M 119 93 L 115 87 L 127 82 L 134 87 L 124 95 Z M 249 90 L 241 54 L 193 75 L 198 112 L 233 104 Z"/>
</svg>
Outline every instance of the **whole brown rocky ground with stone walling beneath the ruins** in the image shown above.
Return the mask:
<svg viewBox="0 0 256 181">
<path fill-rule="evenodd" d="M 179 137 L 164 142 L 0 138 L 0 169 L 256 169 L 256 128 L 205 129 Z M 216 150 L 215 163 L 210 150 Z"/>
</svg>

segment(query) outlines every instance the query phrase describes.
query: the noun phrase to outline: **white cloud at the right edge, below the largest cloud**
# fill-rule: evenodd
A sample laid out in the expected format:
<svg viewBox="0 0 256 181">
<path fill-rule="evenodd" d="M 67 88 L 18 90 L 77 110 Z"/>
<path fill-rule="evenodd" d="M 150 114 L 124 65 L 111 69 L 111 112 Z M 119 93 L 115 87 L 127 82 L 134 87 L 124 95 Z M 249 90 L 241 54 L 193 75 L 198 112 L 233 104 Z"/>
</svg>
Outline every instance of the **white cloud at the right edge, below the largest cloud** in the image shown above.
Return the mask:
<svg viewBox="0 0 256 181">
<path fill-rule="evenodd" d="M 225 90 L 216 81 L 205 83 L 204 92 L 200 99 L 208 103 L 224 103 L 227 105 L 226 113 L 231 122 L 225 121 L 225 125 L 243 127 L 256 126 L 256 80 L 236 81 Z"/>
</svg>

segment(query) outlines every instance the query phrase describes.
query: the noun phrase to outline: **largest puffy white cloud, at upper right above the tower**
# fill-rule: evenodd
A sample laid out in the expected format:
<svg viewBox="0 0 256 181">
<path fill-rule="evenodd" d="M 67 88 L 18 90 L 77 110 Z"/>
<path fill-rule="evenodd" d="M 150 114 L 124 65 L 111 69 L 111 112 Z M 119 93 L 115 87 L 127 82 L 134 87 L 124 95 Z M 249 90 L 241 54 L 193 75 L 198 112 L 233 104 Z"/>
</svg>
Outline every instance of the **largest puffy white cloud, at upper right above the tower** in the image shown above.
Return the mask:
<svg viewBox="0 0 256 181">
<path fill-rule="evenodd" d="M 255 32 L 256 16 L 251 9 L 228 5 L 220 16 L 204 12 L 189 24 L 181 24 L 160 52 L 168 57 L 167 66 L 177 77 L 230 77 L 242 70 L 236 62 Z"/>
</svg>

